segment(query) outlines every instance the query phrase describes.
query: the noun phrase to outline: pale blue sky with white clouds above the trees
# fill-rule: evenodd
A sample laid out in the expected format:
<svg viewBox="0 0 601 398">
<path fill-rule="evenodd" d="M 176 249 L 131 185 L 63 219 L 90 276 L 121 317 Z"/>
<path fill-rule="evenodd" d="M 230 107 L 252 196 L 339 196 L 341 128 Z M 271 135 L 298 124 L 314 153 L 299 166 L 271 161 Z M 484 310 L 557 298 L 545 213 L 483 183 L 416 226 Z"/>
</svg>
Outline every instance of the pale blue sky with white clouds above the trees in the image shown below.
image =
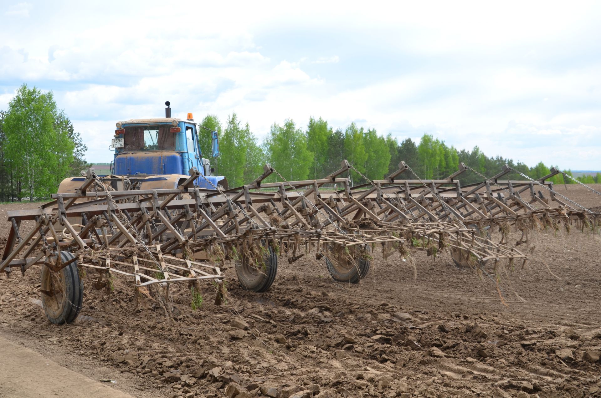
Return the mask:
<svg viewBox="0 0 601 398">
<path fill-rule="evenodd" d="M 23 82 L 52 91 L 91 162 L 169 100 L 259 139 L 313 116 L 601 170 L 600 2 L 0 4 L 0 109 Z"/>
</svg>

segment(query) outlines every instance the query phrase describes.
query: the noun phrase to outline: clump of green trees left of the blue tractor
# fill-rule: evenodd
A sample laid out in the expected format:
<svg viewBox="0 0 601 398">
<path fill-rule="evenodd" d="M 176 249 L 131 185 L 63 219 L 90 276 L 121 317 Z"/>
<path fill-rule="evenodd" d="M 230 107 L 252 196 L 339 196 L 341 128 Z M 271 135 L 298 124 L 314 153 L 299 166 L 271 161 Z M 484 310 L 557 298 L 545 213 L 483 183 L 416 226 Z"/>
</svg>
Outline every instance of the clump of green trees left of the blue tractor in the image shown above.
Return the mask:
<svg viewBox="0 0 601 398">
<path fill-rule="evenodd" d="M 41 200 L 90 167 L 87 147 L 52 91 L 23 84 L 0 111 L 0 201 Z"/>
</svg>

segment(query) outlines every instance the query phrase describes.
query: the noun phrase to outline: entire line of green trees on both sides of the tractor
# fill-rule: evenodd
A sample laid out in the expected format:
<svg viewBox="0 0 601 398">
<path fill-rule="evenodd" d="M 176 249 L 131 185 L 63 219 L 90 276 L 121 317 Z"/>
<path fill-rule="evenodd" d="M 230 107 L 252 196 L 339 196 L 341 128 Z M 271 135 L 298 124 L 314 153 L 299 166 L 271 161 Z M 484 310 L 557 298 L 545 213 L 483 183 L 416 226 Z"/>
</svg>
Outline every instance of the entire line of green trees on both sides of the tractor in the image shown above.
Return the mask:
<svg viewBox="0 0 601 398">
<path fill-rule="evenodd" d="M 211 132 L 219 132 L 221 156 L 212 159 L 217 173 L 227 177 L 230 186 L 252 182 L 269 163 L 287 180 L 320 179 L 340 169 L 347 159 L 357 171 L 349 177 L 353 184 L 382 179 L 398 169 L 404 161 L 422 179 L 442 179 L 457 171 L 459 162 L 487 177 L 498 174 L 507 164 L 533 179 L 551 173 L 539 162 L 528 167 L 522 162 L 501 156 L 489 157 L 478 147 L 457 150 L 438 138 L 425 133 L 419 142 L 411 138 L 398 141 L 391 134 L 380 135 L 376 129 L 350 123 L 345 129 L 334 129 L 323 118 L 311 117 L 306 126 L 293 120 L 274 123 L 260 142 L 248 123 L 242 123 L 236 113 L 228 116 L 225 125 L 215 115 L 201 122 L 200 146 L 204 156 L 211 151 Z M 85 161 L 87 150 L 81 135 L 75 132 L 67 115 L 56 106 L 53 94 L 23 84 L 0 111 L 0 201 L 28 198 L 42 200 L 56 192 L 65 177 L 77 176 L 91 167 Z M 108 155 L 108 154 L 107 154 Z M 565 171 L 572 176 L 570 170 Z M 405 179 L 416 177 L 405 171 Z M 504 179 L 522 180 L 512 171 Z M 270 177 L 275 180 L 276 176 Z M 462 184 L 481 181 L 472 171 L 460 176 Z M 601 183 L 601 174 L 578 177 L 583 183 Z M 554 183 L 573 183 L 562 174 L 551 178 Z"/>
</svg>

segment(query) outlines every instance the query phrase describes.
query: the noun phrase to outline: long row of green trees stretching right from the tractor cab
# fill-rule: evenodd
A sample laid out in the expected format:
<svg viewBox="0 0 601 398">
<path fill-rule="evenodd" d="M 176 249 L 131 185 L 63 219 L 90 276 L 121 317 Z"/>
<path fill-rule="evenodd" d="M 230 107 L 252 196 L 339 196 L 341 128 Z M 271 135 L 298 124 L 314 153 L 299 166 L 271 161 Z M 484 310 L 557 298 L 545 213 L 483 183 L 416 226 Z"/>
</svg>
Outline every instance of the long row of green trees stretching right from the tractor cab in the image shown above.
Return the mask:
<svg viewBox="0 0 601 398">
<path fill-rule="evenodd" d="M 343 159 L 360 173 L 352 170 L 343 176 L 349 177 L 353 184 L 367 182 L 365 177 L 369 180 L 382 179 L 398 170 L 401 161 L 406 162 L 421 179 L 448 177 L 458 170 L 460 162 L 486 177 L 500 173 L 505 164 L 532 179 L 551 173 L 550 167 L 543 162 L 528 167 L 523 162 L 502 156 L 486 156 L 477 146 L 472 150 L 458 150 L 427 133 L 419 142 L 411 138 L 398 141 L 391 134 L 379 135 L 376 129 L 365 129 L 354 122 L 346 129 L 334 129 L 322 118 L 311 117 L 306 127 L 288 119 L 283 124 L 274 123 L 263 142 L 251 132 L 248 123 L 243 124 L 239 120 L 235 112 L 227 118 L 225 126 L 215 115 L 207 115 L 201 126 L 205 127 L 200 129 L 200 145 L 204 154 L 211 153 L 210 132 L 215 130 L 219 133 L 221 156 L 213 162 L 218 174 L 227 177 L 230 186 L 252 182 L 263 173 L 265 163 L 272 165 L 287 180 L 306 180 L 328 176 L 340 169 Z M 572 176 L 570 170 L 564 172 Z M 410 171 L 401 174 L 401 178 L 416 179 Z M 482 180 L 473 171 L 466 171 L 459 178 L 464 185 Z M 502 179 L 524 180 L 525 177 L 511 171 Z M 578 179 L 582 180 L 581 177 Z M 564 181 L 563 174 L 557 174 L 549 181 L 574 183 L 570 179 Z M 597 177 L 594 180 L 587 178 L 587 181 L 601 182 Z"/>
</svg>

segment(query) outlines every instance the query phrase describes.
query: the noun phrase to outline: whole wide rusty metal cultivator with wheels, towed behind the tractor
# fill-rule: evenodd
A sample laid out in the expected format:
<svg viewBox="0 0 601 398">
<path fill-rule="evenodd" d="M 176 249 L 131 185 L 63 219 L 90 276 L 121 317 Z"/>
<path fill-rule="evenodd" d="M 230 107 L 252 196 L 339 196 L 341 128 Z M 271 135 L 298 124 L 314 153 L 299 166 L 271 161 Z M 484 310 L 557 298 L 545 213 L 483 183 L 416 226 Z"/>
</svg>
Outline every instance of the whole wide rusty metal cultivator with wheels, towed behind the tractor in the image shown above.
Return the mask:
<svg viewBox="0 0 601 398">
<path fill-rule="evenodd" d="M 122 275 L 136 292 L 154 285 L 166 295 L 172 283 L 183 282 L 194 296 L 198 284 L 209 280 L 218 287 L 219 302 L 221 267 L 228 260 L 236 264 L 242 287 L 255 292 L 273 283 L 278 257 L 294 263 L 312 252 L 335 280 L 351 283 L 365 277 L 377 248 L 383 259 L 415 250 L 435 256 L 450 251 L 459 265 L 493 260 L 496 268 L 499 261 L 526 256 L 505 245 L 505 237 L 493 242 L 495 225 L 596 226 L 599 220 L 545 182 L 557 170 L 536 181 L 500 180 L 511 171 L 506 167 L 490 179 L 478 173 L 483 182 L 468 186 L 457 179 L 471 170 L 463 164 L 447 179 L 423 180 L 401 162 L 385 179 L 359 186 L 341 177 L 350 170 L 358 172 L 343 161 L 323 179 L 287 181 L 266 165 L 252 183 L 227 190 L 208 179 L 213 189 L 195 187 L 203 176 L 194 168 L 174 189 L 140 189 L 124 178 L 88 171 L 75 192 L 52 195 L 36 210 L 8 212 L 12 225 L 0 271 L 24 273 L 43 265 L 44 308 L 52 322 L 63 323 L 81 308 L 83 268 L 96 271 L 97 288 Z M 407 171 L 415 179 L 398 178 Z M 265 182 L 274 175 L 276 182 Z M 551 192 L 549 198 L 536 191 L 539 186 Z"/>
</svg>

